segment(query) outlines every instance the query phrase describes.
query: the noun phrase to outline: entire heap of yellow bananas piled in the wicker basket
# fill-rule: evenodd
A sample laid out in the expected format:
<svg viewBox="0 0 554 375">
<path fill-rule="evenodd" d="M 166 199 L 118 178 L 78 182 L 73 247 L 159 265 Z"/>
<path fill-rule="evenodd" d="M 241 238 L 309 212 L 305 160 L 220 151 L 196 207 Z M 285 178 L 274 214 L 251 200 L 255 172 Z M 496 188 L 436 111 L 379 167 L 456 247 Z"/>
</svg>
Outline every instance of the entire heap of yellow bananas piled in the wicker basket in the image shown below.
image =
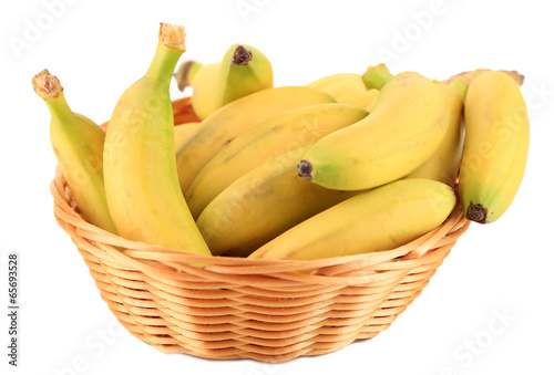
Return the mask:
<svg viewBox="0 0 554 375">
<path fill-rule="evenodd" d="M 492 222 L 516 195 L 530 140 L 516 72 L 440 81 L 378 64 L 274 87 L 248 45 L 175 70 L 184 41 L 161 24 L 150 67 L 102 126 L 71 112 L 48 71 L 33 79 L 84 220 L 204 256 L 311 260 L 402 246 L 458 201 Z M 171 101 L 173 77 L 191 97 Z"/>
</svg>

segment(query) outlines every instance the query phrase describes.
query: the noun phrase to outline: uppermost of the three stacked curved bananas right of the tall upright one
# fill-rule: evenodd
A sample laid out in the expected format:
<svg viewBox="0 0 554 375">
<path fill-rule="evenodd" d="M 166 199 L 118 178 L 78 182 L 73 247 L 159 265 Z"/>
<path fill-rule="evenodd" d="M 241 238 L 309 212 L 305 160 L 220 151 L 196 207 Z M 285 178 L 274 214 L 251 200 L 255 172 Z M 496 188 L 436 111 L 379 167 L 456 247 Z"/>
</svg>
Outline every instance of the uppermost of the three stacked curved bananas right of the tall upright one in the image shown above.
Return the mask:
<svg viewBox="0 0 554 375">
<path fill-rule="evenodd" d="M 305 86 L 266 88 L 236 100 L 204 119 L 177 149 L 178 179 L 186 194 L 194 178 L 225 146 L 246 129 L 285 111 L 335 100 Z"/>
</svg>

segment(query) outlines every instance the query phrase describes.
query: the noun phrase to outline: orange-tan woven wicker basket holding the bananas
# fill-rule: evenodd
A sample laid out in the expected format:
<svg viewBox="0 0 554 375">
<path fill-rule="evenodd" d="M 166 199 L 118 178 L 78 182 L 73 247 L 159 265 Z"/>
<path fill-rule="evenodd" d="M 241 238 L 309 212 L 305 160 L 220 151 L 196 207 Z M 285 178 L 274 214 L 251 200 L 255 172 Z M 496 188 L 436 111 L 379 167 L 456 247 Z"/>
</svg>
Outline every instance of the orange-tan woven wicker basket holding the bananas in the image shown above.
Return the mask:
<svg viewBox="0 0 554 375">
<path fill-rule="evenodd" d="M 59 170 L 50 188 L 57 221 L 121 324 L 161 352 L 214 360 L 283 362 L 376 336 L 469 227 L 458 205 L 440 228 L 390 251 L 317 261 L 205 257 L 85 222 Z"/>
</svg>

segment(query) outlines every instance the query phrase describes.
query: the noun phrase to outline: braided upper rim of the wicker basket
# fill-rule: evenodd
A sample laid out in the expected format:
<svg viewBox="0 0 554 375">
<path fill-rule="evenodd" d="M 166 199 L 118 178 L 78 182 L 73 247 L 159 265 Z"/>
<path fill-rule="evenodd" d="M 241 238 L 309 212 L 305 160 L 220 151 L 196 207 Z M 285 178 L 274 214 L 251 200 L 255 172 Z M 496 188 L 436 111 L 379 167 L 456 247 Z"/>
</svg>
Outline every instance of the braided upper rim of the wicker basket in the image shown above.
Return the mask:
<svg viewBox="0 0 554 375">
<path fill-rule="evenodd" d="M 267 260 L 204 256 L 145 242 L 127 240 L 86 222 L 68 202 L 66 195 L 71 192 L 69 192 L 69 187 L 66 186 L 58 166 L 55 168 L 55 178 L 50 184 L 50 190 L 54 198 L 55 216 L 75 226 L 81 235 L 85 235 L 83 237 L 102 243 L 103 250 L 110 252 L 112 257 L 134 262 L 138 268 L 153 267 L 152 262 L 163 260 L 166 264 L 174 263 L 176 268 L 182 271 L 192 272 L 194 272 L 194 269 L 198 269 L 198 267 L 188 265 L 188 263 L 202 263 L 205 264 L 203 269 L 219 273 L 264 274 L 267 270 L 275 272 L 276 269 L 283 270 L 283 272 L 296 272 L 306 269 L 320 270 L 322 268 L 340 268 L 341 265 L 352 262 L 363 262 L 366 265 L 377 265 L 379 263 L 399 258 L 402 260 L 417 259 L 425 254 L 428 250 L 435 247 L 447 235 L 460 232 L 459 236 L 461 236 L 470 225 L 470 221 L 464 218 L 460 202 L 458 201 L 450 216 L 441 226 L 401 247 L 391 250 L 318 260 Z M 459 236 L 455 236 L 453 240 L 455 241 Z M 124 250 L 120 251 L 115 247 L 123 248 Z M 326 272 L 325 274 L 317 274 L 316 272 L 302 275 L 317 279 L 328 278 L 330 274 L 329 272 Z M 352 281 L 351 277 L 349 277 L 349 279 Z"/>
</svg>

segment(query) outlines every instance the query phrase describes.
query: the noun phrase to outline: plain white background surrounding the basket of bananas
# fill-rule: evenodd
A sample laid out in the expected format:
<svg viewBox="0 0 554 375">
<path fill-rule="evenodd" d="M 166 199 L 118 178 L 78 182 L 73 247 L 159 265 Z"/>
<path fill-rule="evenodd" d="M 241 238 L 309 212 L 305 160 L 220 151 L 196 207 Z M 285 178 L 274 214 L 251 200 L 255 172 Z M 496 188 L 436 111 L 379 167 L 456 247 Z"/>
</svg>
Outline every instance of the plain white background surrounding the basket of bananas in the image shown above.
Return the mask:
<svg viewBox="0 0 554 375">
<path fill-rule="evenodd" d="M 554 374 L 554 27 L 552 12 L 541 8 L 545 3 L 3 1 L 0 372 Z M 75 112 L 104 122 L 121 93 L 148 66 L 161 21 L 185 25 L 183 59 L 213 62 L 235 42 L 257 46 L 273 62 L 276 85 L 306 84 L 337 72 L 363 73 L 383 61 L 393 73 L 412 70 L 437 79 L 476 67 L 520 71 L 532 128 L 527 169 L 515 201 L 495 223 L 472 225 L 422 295 L 373 340 L 278 365 L 157 352 L 116 323 L 69 236 L 54 221 L 50 115 L 31 77 L 48 67 L 61 80 Z M 20 254 L 18 368 L 7 364 L 6 269 L 12 251 Z"/>
</svg>

